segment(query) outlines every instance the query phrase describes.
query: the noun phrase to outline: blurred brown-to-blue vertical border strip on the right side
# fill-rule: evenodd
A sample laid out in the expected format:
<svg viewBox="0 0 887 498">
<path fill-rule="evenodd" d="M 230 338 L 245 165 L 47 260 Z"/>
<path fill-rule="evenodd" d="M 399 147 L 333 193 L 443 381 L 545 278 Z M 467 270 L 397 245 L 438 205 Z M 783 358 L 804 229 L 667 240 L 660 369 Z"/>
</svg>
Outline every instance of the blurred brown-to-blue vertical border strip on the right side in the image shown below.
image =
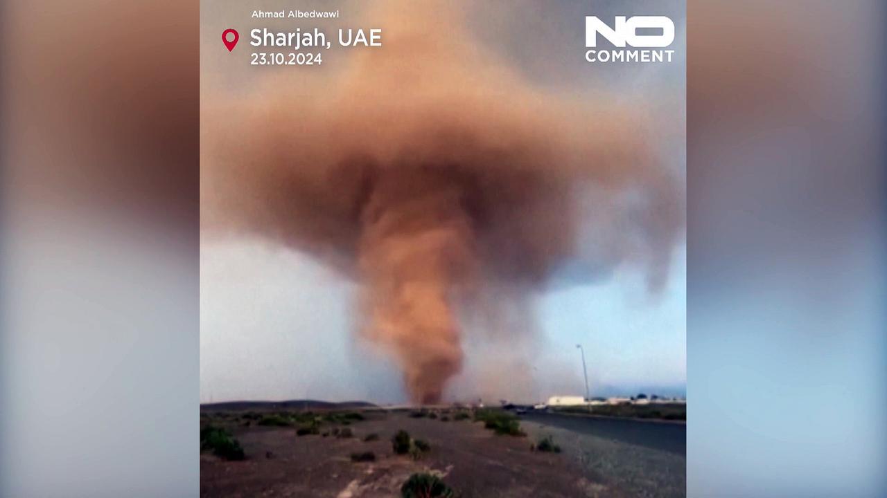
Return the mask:
<svg viewBox="0 0 887 498">
<path fill-rule="evenodd" d="M 887 495 L 883 2 L 690 2 L 687 494 Z"/>
</svg>

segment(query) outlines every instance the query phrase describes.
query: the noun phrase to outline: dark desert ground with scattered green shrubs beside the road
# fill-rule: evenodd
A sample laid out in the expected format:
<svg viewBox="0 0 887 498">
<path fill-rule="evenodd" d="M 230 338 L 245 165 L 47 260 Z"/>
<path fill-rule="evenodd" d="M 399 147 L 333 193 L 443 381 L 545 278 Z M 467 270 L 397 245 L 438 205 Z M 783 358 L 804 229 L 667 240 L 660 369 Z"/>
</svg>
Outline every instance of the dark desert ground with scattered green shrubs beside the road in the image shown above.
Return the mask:
<svg viewBox="0 0 887 498">
<path fill-rule="evenodd" d="M 219 431 L 224 442 L 214 450 L 201 440 L 205 497 L 423 496 L 402 492 L 414 474 L 435 476 L 452 493 L 428 496 L 686 494 L 684 455 L 498 410 L 214 410 L 201 412 L 200 424 L 201 439 Z M 392 441 L 399 431 L 409 433 L 402 455 Z"/>
</svg>

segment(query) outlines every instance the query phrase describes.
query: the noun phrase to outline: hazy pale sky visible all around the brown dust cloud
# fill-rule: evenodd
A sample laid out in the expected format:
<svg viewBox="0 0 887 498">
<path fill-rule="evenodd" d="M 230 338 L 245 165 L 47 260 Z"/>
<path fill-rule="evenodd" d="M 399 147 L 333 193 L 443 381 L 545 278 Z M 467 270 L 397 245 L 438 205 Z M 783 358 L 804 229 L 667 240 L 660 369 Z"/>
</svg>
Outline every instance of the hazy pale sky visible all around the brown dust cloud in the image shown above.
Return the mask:
<svg viewBox="0 0 887 498">
<path fill-rule="evenodd" d="M 226 75 L 217 40 L 219 26 L 250 22 L 245 7 L 220 3 L 201 12 L 201 84 L 248 93 L 253 74 Z M 577 99 L 607 92 L 640 107 L 655 123 L 650 136 L 665 167 L 686 178 L 685 15 L 683 2 L 600 2 L 568 5 L 510 3 L 472 6 L 469 27 L 531 84 Z M 328 4 L 325 4 L 328 5 Z M 310 8 L 311 4 L 281 4 Z M 273 5 L 263 4 L 273 9 Z M 329 7 L 326 7 L 329 8 Z M 346 14 L 349 4 L 342 4 Z M 498 11 L 498 12 L 493 12 Z M 643 13 L 674 20 L 676 60 L 671 64 L 588 64 L 584 16 Z M 235 19 L 234 21 L 230 19 Z M 241 28 L 240 43 L 244 43 Z M 216 46 L 218 45 L 218 46 Z M 384 49 L 382 49 L 384 50 Z M 224 52 L 224 54 L 223 54 Z M 284 70 L 289 70 L 284 69 Z M 243 78 L 241 80 L 241 78 Z M 232 84 L 232 81 L 236 84 Z M 593 237 L 593 234 L 584 234 Z M 538 337 L 521 345 L 529 362 L 500 365 L 497 347 L 467 343 L 466 375 L 484 368 L 530 373 L 514 396 L 544 399 L 584 390 L 576 344 L 585 346 L 591 391 L 684 393 L 686 359 L 686 237 L 674 253 L 661 294 L 647 291 L 636 268 L 619 268 L 592 284 L 558 285 L 534 296 Z M 569 274 L 569 268 L 564 270 Z M 569 281 L 569 275 L 567 280 Z M 214 237 L 200 249 L 200 401 L 234 399 L 405 401 L 400 373 L 385 354 L 357 344 L 354 283 L 310 256 L 257 238 Z M 506 345 L 507 346 L 507 345 Z M 492 363 L 495 366 L 484 366 Z M 508 389 L 504 389 L 508 391 Z"/>
</svg>

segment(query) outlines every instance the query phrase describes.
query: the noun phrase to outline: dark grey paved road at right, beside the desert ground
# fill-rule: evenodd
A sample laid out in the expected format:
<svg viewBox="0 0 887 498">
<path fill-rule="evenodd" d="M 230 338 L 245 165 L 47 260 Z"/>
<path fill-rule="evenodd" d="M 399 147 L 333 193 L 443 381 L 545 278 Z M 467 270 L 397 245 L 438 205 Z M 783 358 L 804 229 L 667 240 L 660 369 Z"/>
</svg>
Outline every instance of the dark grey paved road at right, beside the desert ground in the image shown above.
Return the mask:
<svg viewBox="0 0 887 498">
<path fill-rule="evenodd" d="M 687 424 L 600 416 L 569 416 L 545 412 L 528 412 L 521 418 L 538 424 L 553 425 L 568 431 L 583 432 L 600 438 L 687 456 Z"/>
</svg>

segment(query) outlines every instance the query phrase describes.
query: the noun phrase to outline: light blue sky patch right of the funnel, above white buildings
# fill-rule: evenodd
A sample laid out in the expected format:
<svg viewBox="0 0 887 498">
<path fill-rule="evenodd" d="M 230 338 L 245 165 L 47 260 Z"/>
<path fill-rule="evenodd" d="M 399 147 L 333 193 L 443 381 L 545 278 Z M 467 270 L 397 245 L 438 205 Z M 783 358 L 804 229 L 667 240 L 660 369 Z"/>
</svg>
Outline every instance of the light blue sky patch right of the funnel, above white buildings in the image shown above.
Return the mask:
<svg viewBox="0 0 887 498">
<path fill-rule="evenodd" d="M 617 271 L 605 283 L 539 297 L 546 353 L 581 368 L 585 348 L 593 395 L 657 391 L 683 394 L 687 385 L 686 249 L 673 258 L 661 294 L 647 292 L 643 276 Z M 581 387 L 581 386 L 580 386 Z"/>
</svg>

